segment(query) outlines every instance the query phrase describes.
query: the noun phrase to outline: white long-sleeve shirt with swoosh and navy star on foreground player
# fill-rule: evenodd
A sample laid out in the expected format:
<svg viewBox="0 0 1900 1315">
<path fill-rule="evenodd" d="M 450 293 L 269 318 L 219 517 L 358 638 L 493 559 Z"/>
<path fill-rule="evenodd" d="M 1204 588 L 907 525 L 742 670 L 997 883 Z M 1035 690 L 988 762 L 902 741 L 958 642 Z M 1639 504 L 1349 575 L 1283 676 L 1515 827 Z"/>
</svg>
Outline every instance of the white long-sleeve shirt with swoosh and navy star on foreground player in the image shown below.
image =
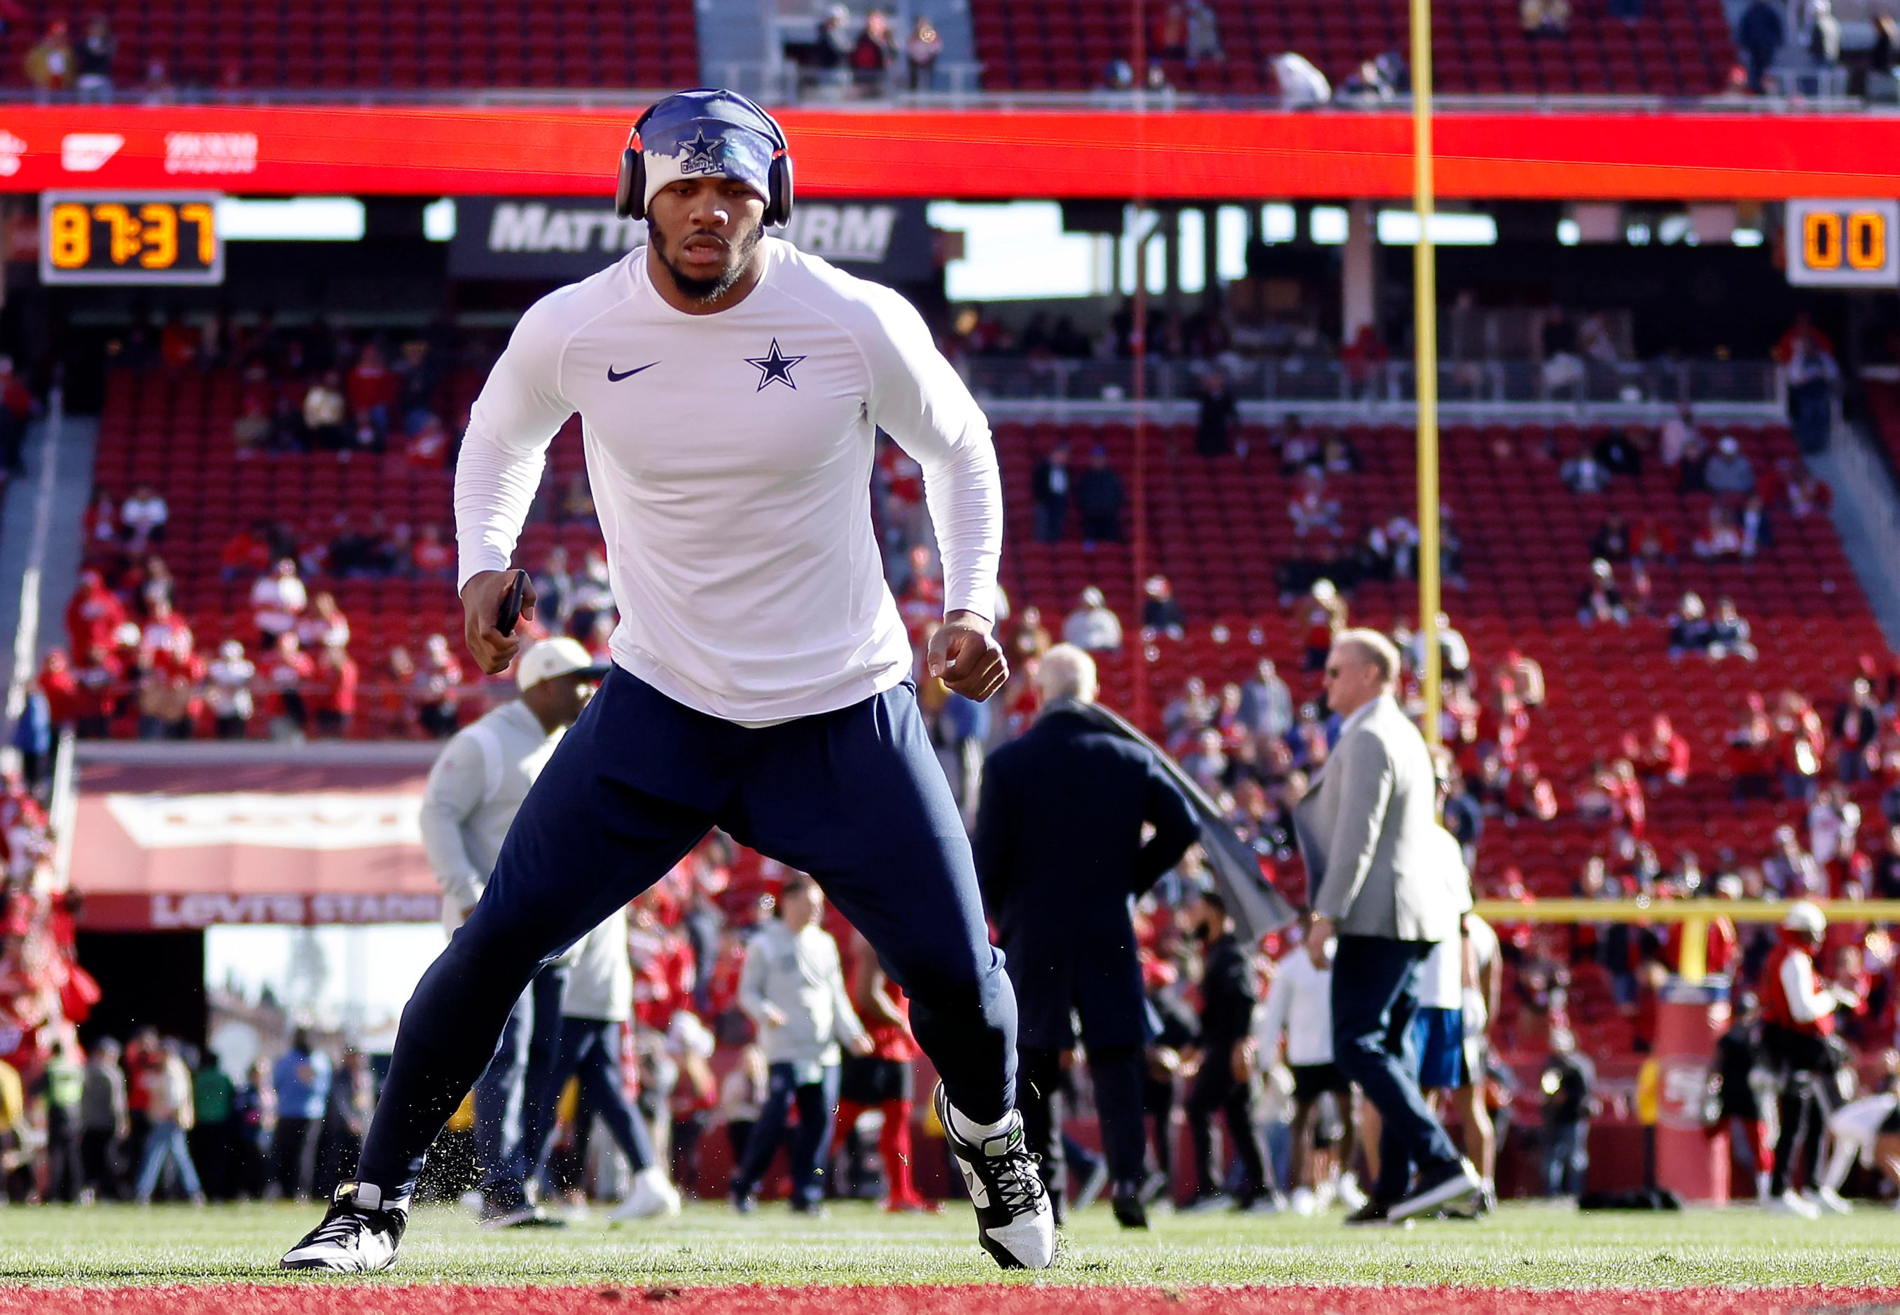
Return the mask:
<svg viewBox="0 0 1900 1315">
<path fill-rule="evenodd" d="M 504 570 L 576 410 L 619 667 L 692 709 L 770 726 L 910 675 L 870 521 L 876 431 L 923 467 L 944 610 L 996 618 L 1001 479 L 963 380 L 897 293 L 766 238 L 758 285 L 688 315 L 646 249 L 536 302 L 456 466 L 460 578 Z"/>
</svg>

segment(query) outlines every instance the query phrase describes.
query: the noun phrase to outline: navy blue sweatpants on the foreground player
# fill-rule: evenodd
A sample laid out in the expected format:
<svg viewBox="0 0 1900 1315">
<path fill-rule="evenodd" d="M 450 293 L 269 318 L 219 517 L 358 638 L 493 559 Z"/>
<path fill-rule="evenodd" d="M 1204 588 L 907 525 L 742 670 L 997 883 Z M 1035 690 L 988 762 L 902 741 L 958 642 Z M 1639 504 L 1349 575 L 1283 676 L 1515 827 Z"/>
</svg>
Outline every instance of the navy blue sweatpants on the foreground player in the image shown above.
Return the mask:
<svg viewBox="0 0 1900 1315">
<path fill-rule="evenodd" d="M 407 1197 L 534 973 L 720 827 L 809 872 L 910 996 L 918 1043 L 980 1123 L 1015 1104 L 1016 998 L 916 692 L 749 730 L 616 667 L 562 737 L 494 876 L 403 1009 L 363 1182 Z"/>
</svg>

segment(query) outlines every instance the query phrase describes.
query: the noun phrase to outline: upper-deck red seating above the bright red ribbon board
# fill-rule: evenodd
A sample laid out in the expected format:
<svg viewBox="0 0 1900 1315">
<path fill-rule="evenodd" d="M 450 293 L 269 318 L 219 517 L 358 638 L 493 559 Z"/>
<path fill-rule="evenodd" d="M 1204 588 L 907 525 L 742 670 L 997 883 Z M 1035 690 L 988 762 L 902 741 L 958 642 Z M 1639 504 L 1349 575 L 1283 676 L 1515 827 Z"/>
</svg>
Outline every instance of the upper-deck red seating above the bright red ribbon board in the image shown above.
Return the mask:
<svg viewBox="0 0 1900 1315">
<path fill-rule="evenodd" d="M 1773 21 L 1748 10 L 1771 11 Z M 1824 40 L 1805 6 L 1780 0 L 1438 0 L 1433 6 L 1436 89 L 1446 95 L 1700 99 L 1727 91 L 1797 91 L 1807 103 L 1852 93 L 1892 99 L 1877 6 L 1834 6 Z M 830 10 L 830 21 L 817 19 Z M 842 15 L 838 11 L 844 11 Z M 889 99 L 963 89 L 1100 93 L 1134 80 L 1188 99 L 1300 103 L 1275 61 L 1292 51 L 1347 99 L 1404 93 L 1408 2 L 1368 0 L 971 0 L 939 13 L 946 34 L 912 46 L 904 21 L 925 4 L 777 6 L 667 0 L 104 0 L 8 6 L 0 87 L 80 91 L 104 99 L 108 76 L 127 99 L 255 93 L 437 93 L 676 87 L 720 74 L 758 80 L 766 99 Z M 963 6 L 958 6 L 963 10 Z M 1852 10 L 1852 13 L 1851 13 Z M 785 15 L 811 11 L 817 40 L 790 40 Z M 777 13 L 777 34 L 770 23 Z M 874 13 L 901 17 L 868 23 Z M 1142 21 L 1136 21 L 1142 13 Z M 1860 17 L 1856 17 L 1860 15 Z M 1750 17 L 1750 23 L 1742 23 Z M 764 59 L 732 63 L 720 29 L 750 19 L 768 30 Z M 53 27 L 63 25 L 63 34 Z M 103 25 L 97 27 L 97 25 Z M 701 34 L 699 27 L 709 25 Z M 1746 32 L 1744 32 L 1746 27 Z M 1835 30 L 1839 29 L 1839 30 Z M 1866 30 L 1862 30 L 1866 29 Z M 101 34 L 108 34 L 101 42 Z M 914 36 L 914 34 L 912 34 Z M 1868 40 L 1873 36 L 1875 40 Z M 61 44 L 68 49 L 61 53 Z M 1140 51 L 1136 49 L 1140 44 Z M 1811 48 L 1834 55 L 1811 57 Z M 1889 40 L 1890 46 L 1890 40 Z M 87 49 L 91 48 L 91 49 Z M 975 65 L 950 63 L 958 48 Z M 749 53 L 758 53 L 747 48 Z M 1368 65 L 1395 59 L 1378 74 Z M 1130 63 L 1144 63 L 1140 72 Z M 942 67 L 939 67 L 942 65 Z M 1872 76 L 1870 76 L 1872 70 Z M 1803 76 L 1813 74 L 1813 76 Z M 76 84 L 89 80 L 87 87 Z M 747 87 L 756 89 L 756 87 Z M 775 91 L 783 95 L 775 95 Z M 1324 99 L 1324 95 L 1320 95 Z"/>
</svg>

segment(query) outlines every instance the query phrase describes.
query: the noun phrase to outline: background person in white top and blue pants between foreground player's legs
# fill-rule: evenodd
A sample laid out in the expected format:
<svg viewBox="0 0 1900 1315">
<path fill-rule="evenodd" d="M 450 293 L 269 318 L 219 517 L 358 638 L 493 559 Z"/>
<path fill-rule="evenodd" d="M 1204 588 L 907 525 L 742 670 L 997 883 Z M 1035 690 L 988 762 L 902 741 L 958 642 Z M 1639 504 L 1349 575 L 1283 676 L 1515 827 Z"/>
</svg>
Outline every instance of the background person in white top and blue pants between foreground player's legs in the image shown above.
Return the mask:
<svg viewBox="0 0 1900 1315">
<path fill-rule="evenodd" d="M 838 943 L 819 925 L 825 897 L 804 872 L 787 878 L 773 918 L 745 946 L 739 1007 L 758 1028 L 770 1087 L 752 1125 L 745 1157 L 732 1171 L 730 1197 L 741 1214 L 752 1212 L 758 1184 L 785 1140 L 785 1115 L 798 1104 L 792 1144 L 792 1210 L 825 1209 L 819 1167 L 830 1159 L 832 1119 L 838 1114 L 838 1064 L 844 1055 L 870 1055 L 870 1034 L 851 1007 Z"/>
</svg>

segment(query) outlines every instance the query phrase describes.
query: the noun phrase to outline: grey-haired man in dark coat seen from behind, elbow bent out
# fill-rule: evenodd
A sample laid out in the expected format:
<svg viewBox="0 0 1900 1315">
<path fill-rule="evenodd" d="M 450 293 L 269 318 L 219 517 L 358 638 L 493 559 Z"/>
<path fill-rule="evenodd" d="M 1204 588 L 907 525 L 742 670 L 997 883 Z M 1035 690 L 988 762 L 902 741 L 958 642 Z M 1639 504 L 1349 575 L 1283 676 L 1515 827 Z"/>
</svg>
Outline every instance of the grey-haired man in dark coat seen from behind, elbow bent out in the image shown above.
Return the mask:
<svg viewBox="0 0 1900 1315">
<path fill-rule="evenodd" d="M 1056 644 L 1036 671 L 1043 713 L 990 754 L 977 808 L 977 872 L 1016 986 L 1016 1104 L 1030 1150 L 1062 1201 L 1062 1058 L 1081 1019 L 1125 1228 L 1142 1209 L 1142 1051 L 1148 1041 L 1142 969 L 1130 906 L 1193 844 L 1188 796 L 1155 754 L 1089 718 L 1094 659 Z M 1142 823 L 1155 834 L 1142 844 Z M 1058 1216 L 1060 1218 L 1060 1216 Z"/>
</svg>

